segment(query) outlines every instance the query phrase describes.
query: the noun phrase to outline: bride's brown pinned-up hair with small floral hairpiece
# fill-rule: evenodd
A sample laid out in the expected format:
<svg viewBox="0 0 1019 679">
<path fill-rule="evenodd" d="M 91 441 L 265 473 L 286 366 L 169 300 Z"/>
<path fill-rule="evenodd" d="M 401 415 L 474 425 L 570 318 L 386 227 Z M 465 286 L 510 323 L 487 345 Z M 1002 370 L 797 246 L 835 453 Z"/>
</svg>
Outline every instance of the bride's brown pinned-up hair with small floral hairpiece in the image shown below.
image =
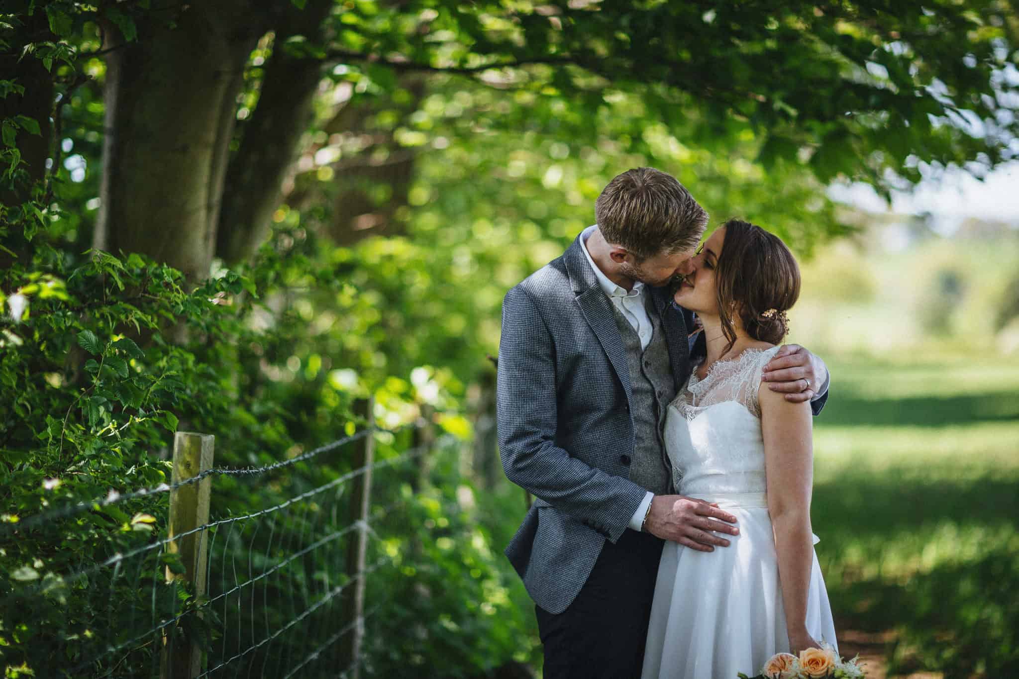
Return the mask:
<svg viewBox="0 0 1019 679">
<path fill-rule="evenodd" d="M 759 342 L 777 344 L 789 333 L 786 312 L 800 296 L 800 267 L 786 243 L 756 224 L 731 219 L 715 266 L 721 332 L 736 344 L 733 314 Z"/>
</svg>

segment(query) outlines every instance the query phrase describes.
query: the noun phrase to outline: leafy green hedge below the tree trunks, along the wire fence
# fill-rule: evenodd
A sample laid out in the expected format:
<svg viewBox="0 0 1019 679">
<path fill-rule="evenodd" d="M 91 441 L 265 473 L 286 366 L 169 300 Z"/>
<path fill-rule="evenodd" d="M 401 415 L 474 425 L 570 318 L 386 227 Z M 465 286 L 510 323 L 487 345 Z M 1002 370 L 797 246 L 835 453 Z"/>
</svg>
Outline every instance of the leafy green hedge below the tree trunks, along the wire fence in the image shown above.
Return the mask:
<svg viewBox="0 0 1019 679">
<path fill-rule="evenodd" d="M 414 412 L 415 403 L 455 407 L 463 385 L 448 369 L 415 363 L 428 355 L 428 347 L 400 353 L 395 338 L 380 329 L 405 313 L 400 304 L 413 303 L 399 296 L 398 280 L 379 287 L 361 267 L 344 264 L 348 254 L 323 258 L 321 243 L 307 234 L 302 238 L 296 230 L 280 229 L 246 275 L 224 270 L 185 292 L 178 272 L 139 254 L 89 251 L 79 261 L 61 257 L 52 242 L 58 233 L 41 234 L 34 271 L 15 265 L 0 280 L 0 289 L 10 291 L 4 299 L 7 307 L 12 298 L 23 300 L 16 319 L 6 315 L 0 321 L 0 381 L 12 395 L 10 407 L 0 412 L 5 507 L 0 597 L 10 605 L 8 610 L 20 612 L 5 619 L 6 632 L 0 636 L 6 645 L 0 653 L 12 665 L 44 674 L 56 671 L 54 658 L 66 657 L 63 671 L 77 668 L 74 676 L 87 676 L 83 664 L 96 672 L 110 671 L 116 654 L 105 649 L 120 648 L 124 658 L 114 676 L 140 676 L 156 658 L 152 644 L 133 638 L 139 623 L 180 616 L 201 602 L 194 602 L 176 582 L 153 581 L 164 567 L 181 569 L 162 550 L 125 562 L 122 568 L 99 565 L 115 553 L 165 535 L 166 495 L 96 506 L 48 523 L 34 516 L 101 498 L 109 489 L 154 488 L 168 482 L 167 444 L 179 422 L 216 435 L 217 465 L 264 464 L 342 435 L 353 418 L 352 400 L 368 391 L 375 392 L 387 416 L 398 421 L 409 409 Z M 362 267 L 372 271 L 398 266 L 393 253 L 384 249 L 377 260 L 366 258 Z M 344 272 L 342 267 L 350 269 Z M 315 292 L 306 298 L 309 290 Z M 394 306 L 380 315 L 378 309 L 386 309 L 385 295 L 392 297 Z M 291 303 L 282 303 L 286 297 Z M 330 318 L 313 316 L 311 302 L 319 299 L 334 304 Z M 314 323 L 322 325 L 310 331 Z M 386 355 L 383 351 L 391 353 L 390 361 L 378 360 Z M 408 377 L 394 377 L 394 369 Z M 208 398 L 210 394 L 216 398 Z M 441 421 L 450 431 L 470 434 L 469 425 L 452 413 Z M 433 603 L 446 611 L 443 633 L 448 636 L 452 629 L 455 639 L 450 643 L 461 649 L 451 671 L 468 676 L 519 650 L 517 630 L 524 613 L 508 607 L 503 584 L 507 575 L 498 550 L 489 547 L 470 512 L 450 504 L 449 494 L 469 484 L 450 475 L 450 464 L 439 468 L 435 491 L 408 500 L 421 515 L 393 522 L 388 534 L 381 529 L 379 533 L 386 534 L 387 544 L 406 547 L 426 540 L 419 532 L 421 521 L 448 515 L 443 519 L 452 525 L 443 531 L 448 537 L 427 544 L 414 563 L 422 573 L 430 573 L 430 586 L 461 575 L 477 583 L 478 588 L 442 589 Z M 256 512 L 347 469 L 340 455 L 314 467 L 301 465 L 268 487 L 217 478 L 213 515 Z M 385 493 L 379 493 L 377 503 L 386 504 Z M 308 523 L 308 514 L 302 513 L 309 511 L 321 515 L 323 510 L 298 504 L 273 523 L 278 534 L 291 535 L 289 552 L 314 542 L 316 524 Z M 343 510 L 333 518 L 334 525 L 342 524 L 345 515 Z M 256 526 L 217 533 L 212 540 L 214 568 L 221 570 L 232 559 L 247 560 L 268 548 L 261 542 L 266 532 L 271 539 L 268 528 Z M 321 557 L 319 568 L 335 577 L 342 560 L 330 554 Z M 401 564 L 411 565 L 406 560 Z M 83 578 L 62 577 L 83 568 L 93 572 Z M 473 576 L 479 569 L 482 575 Z M 290 571 L 283 576 L 299 579 L 292 586 L 283 580 L 271 588 L 268 605 L 278 611 L 270 621 L 276 626 L 300 613 L 287 603 L 293 587 L 310 589 L 307 601 L 315 599 L 311 583 L 302 584 L 304 576 Z M 410 586 L 403 582 L 400 586 Z M 481 615 L 477 611 L 489 607 L 498 615 L 483 614 L 475 622 L 475 615 Z M 244 615 L 251 616 L 254 629 L 272 632 L 262 627 L 262 609 Z M 216 620 L 184 615 L 168 631 L 219 643 L 236 633 L 233 627 L 217 627 Z M 448 627 L 450 621 L 454 629 Z M 7 629 L 11 624 L 15 628 Z M 276 648 L 271 662 L 307 653 L 296 638 L 280 640 L 293 647 L 285 655 Z M 465 650 L 474 647 L 478 650 Z M 443 656 L 434 650 L 420 662 L 446 667 L 452 652 L 441 648 Z M 377 652 L 379 663 L 392 662 L 381 660 L 388 650 Z M 90 658 L 96 663 L 89 663 Z M 264 660 L 253 654 L 246 661 L 256 659 Z"/>
</svg>

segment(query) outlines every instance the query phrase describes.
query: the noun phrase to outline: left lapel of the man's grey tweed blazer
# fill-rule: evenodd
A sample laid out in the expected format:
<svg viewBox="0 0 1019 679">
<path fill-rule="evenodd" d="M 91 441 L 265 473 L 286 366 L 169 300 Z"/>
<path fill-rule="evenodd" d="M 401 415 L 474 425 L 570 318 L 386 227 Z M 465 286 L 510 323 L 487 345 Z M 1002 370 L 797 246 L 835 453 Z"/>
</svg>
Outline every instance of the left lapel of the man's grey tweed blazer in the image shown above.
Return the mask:
<svg viewBox="0 0 1019 679">
<path fill-rule="evenodd" d="M 619 326 L 615 325 L 615 315 L 612 312 L 612 302 L 605 296 L 601 286 L 598 285 L 598 278 L 591 270 L 584 250 L 581 249 L 581 236 L 577 236 L 573 244 L 567 249 L 562 258 L 570 275 L 570 282 L 573 285 L 574 294 L 577 295 L 577 304 L 587 324 L 591 326 L 601 348 L 608 356 L 615 376 L 623 384 L 623 390 L 627 394 L 627 402 L 633 400 L 633 390 L 630 386 L 630 365 L 627 363 L 627 350 L 623 346 L 623 336 L 620 335 Z"/>
</svg>

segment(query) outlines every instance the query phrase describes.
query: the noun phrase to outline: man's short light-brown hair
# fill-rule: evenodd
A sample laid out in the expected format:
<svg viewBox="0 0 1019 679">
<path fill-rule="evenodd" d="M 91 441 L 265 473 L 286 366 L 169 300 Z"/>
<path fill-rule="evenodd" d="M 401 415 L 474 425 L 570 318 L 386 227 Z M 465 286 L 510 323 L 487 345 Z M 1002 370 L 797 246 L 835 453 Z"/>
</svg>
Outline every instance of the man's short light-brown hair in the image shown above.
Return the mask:
<svg viewBox="0 0 1019 679">
<path fill-rule="evenodd" d="M 676 177 L 651 167 L 616 175 L 594 205 L 605 240 L 639 260 L 693 249 L 707 226 L 707 212 Z"/>
</svg>

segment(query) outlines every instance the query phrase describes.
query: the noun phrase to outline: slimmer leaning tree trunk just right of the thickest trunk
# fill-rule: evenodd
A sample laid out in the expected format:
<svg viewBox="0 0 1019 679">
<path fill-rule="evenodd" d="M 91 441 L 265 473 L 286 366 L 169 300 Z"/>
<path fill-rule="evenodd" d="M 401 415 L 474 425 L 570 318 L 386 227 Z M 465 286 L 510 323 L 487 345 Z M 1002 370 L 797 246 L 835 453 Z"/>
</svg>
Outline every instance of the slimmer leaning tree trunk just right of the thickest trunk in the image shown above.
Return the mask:
<svg viewBox="0 0 1019 679">
<path fill-rule="evenodd" d="M 276 30 L 258 105 L 245 123 L 223 193 L 216 254 L 228 264 L 247 261 L 269 233 L 272 214 L 282 199 L 283 175 L 297 159 L 322 79 L 321 59 L 291 56 L 282 43 L 299 35 L 321 43 L 320 26 L 333 4 L 333 0 L 311 0 Z"/>
</svg>

